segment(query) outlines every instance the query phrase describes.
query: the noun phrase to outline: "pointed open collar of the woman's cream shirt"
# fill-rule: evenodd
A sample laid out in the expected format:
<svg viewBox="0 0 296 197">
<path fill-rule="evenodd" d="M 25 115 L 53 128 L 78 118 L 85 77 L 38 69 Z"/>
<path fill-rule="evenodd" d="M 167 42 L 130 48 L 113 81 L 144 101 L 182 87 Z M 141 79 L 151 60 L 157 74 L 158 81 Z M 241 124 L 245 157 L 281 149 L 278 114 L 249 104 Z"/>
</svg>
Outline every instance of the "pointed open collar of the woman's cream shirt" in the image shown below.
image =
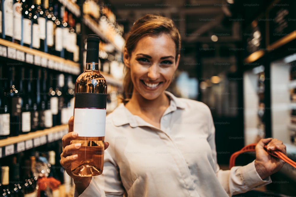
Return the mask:
<svg viewBox="0 0 296 197">
<path fill-rule="evenodd" d="M 170 106 L 166 110 L 165 114 L 179 109 L 185 109 L 184 103 L 180 98 L 175 97 L 172 93 L 165 91 L 165 94 L 170 98 Z M 123 126 L 129 124 L 131 127 L 142 126 L 141 118 L 139 116 L 133 115 L 123 103 L 120 103 L 118 107 L 111 113 L 113 123 L 115 126 Z M 111 115 L 110 114 L 110 115 Z M 164 114 L 164 115 L 165 115 Z M 148 123 L 147 123 L 148 124 Z M 143 125 L 144 126 L 144 125 Z M 148 126 L 148 125 L 147 125 Z"/>
</svg>

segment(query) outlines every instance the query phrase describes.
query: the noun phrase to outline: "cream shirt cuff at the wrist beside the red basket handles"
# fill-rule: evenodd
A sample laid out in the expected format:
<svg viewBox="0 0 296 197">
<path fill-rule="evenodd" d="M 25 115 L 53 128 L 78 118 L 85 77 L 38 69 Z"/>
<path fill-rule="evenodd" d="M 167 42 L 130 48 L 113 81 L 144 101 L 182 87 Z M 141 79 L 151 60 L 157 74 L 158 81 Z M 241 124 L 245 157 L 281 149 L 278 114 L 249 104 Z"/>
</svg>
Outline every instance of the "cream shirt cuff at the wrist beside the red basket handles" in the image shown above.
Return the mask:
<svg viewBox="0 0 296 197">
<path fill-rule="evenodd" d="M 250 188 L 261 187 L 271 183 L 271 178 L 267 177 L 264 180 L 258 174 L 255 168 L 255 160 L 248 165 L 241 167 L 242 182 Z"/>
</svg>

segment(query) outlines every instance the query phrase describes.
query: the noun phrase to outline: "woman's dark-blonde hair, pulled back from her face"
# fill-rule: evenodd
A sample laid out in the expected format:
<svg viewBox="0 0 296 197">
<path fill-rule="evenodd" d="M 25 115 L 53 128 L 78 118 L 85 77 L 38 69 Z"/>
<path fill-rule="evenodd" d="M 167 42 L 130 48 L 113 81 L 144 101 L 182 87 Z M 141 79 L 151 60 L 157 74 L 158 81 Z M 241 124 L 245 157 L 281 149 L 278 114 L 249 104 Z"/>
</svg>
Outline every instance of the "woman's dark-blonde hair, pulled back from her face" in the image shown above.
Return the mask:
<svg viewBox="0 0 296 197">
<path fill-rule="evenodd" d="M 181 48 L 180 33 L 171 19 L 154 14 L 147 14 L 138 19 L 128 33 L 125 48 L 127 49 L 129 56 L 131 56 L 132 51 L 141 38 L 144 38 L 145 36 L 160 36 L 163 33 L 170 36 L 176 44 L 177 60 Z M 125 69 L 123 100 L 127 101 L 131 98 L 133 92 L 133 82 L 131 80 L 131 70 L 127 66 L 125 66 Z"/>
</svg>

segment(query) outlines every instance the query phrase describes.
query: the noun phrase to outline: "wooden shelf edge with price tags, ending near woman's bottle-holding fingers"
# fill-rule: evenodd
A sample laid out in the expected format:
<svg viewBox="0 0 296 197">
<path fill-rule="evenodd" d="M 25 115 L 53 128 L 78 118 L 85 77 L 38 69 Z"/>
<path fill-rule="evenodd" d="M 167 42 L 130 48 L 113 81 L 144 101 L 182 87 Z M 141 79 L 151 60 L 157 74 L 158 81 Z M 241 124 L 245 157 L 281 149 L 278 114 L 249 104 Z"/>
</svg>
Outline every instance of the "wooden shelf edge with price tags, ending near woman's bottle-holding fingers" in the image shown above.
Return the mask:
<svg viewBox="0 0 296 197">
<path fill-rule="evenodd" d="M 22 152 L 62 139 L 68 133 L 68 125 L 59 125 L 52 128 L 8 137 L 0 140 L 0 158 Z"/>
</svg>

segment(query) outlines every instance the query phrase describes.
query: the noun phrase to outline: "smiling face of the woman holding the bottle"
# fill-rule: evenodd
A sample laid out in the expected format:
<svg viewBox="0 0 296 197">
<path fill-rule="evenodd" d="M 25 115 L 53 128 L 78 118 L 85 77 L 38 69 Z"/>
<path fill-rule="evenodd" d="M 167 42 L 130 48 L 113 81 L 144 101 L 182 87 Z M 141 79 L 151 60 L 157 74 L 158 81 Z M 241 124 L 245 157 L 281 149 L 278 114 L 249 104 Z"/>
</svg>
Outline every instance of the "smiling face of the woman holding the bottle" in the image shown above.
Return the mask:
<svg viewBox="0 0 296 197">
<path fill-rule="evenodd" d="M 131 56 L 124 51 L 124 63 L 131 69 L 133 94 L 153 100 L 168 88 L 178 68 L 176 44 L 165 34 L 146 36 L 137 43 Z"/>
</svg>

